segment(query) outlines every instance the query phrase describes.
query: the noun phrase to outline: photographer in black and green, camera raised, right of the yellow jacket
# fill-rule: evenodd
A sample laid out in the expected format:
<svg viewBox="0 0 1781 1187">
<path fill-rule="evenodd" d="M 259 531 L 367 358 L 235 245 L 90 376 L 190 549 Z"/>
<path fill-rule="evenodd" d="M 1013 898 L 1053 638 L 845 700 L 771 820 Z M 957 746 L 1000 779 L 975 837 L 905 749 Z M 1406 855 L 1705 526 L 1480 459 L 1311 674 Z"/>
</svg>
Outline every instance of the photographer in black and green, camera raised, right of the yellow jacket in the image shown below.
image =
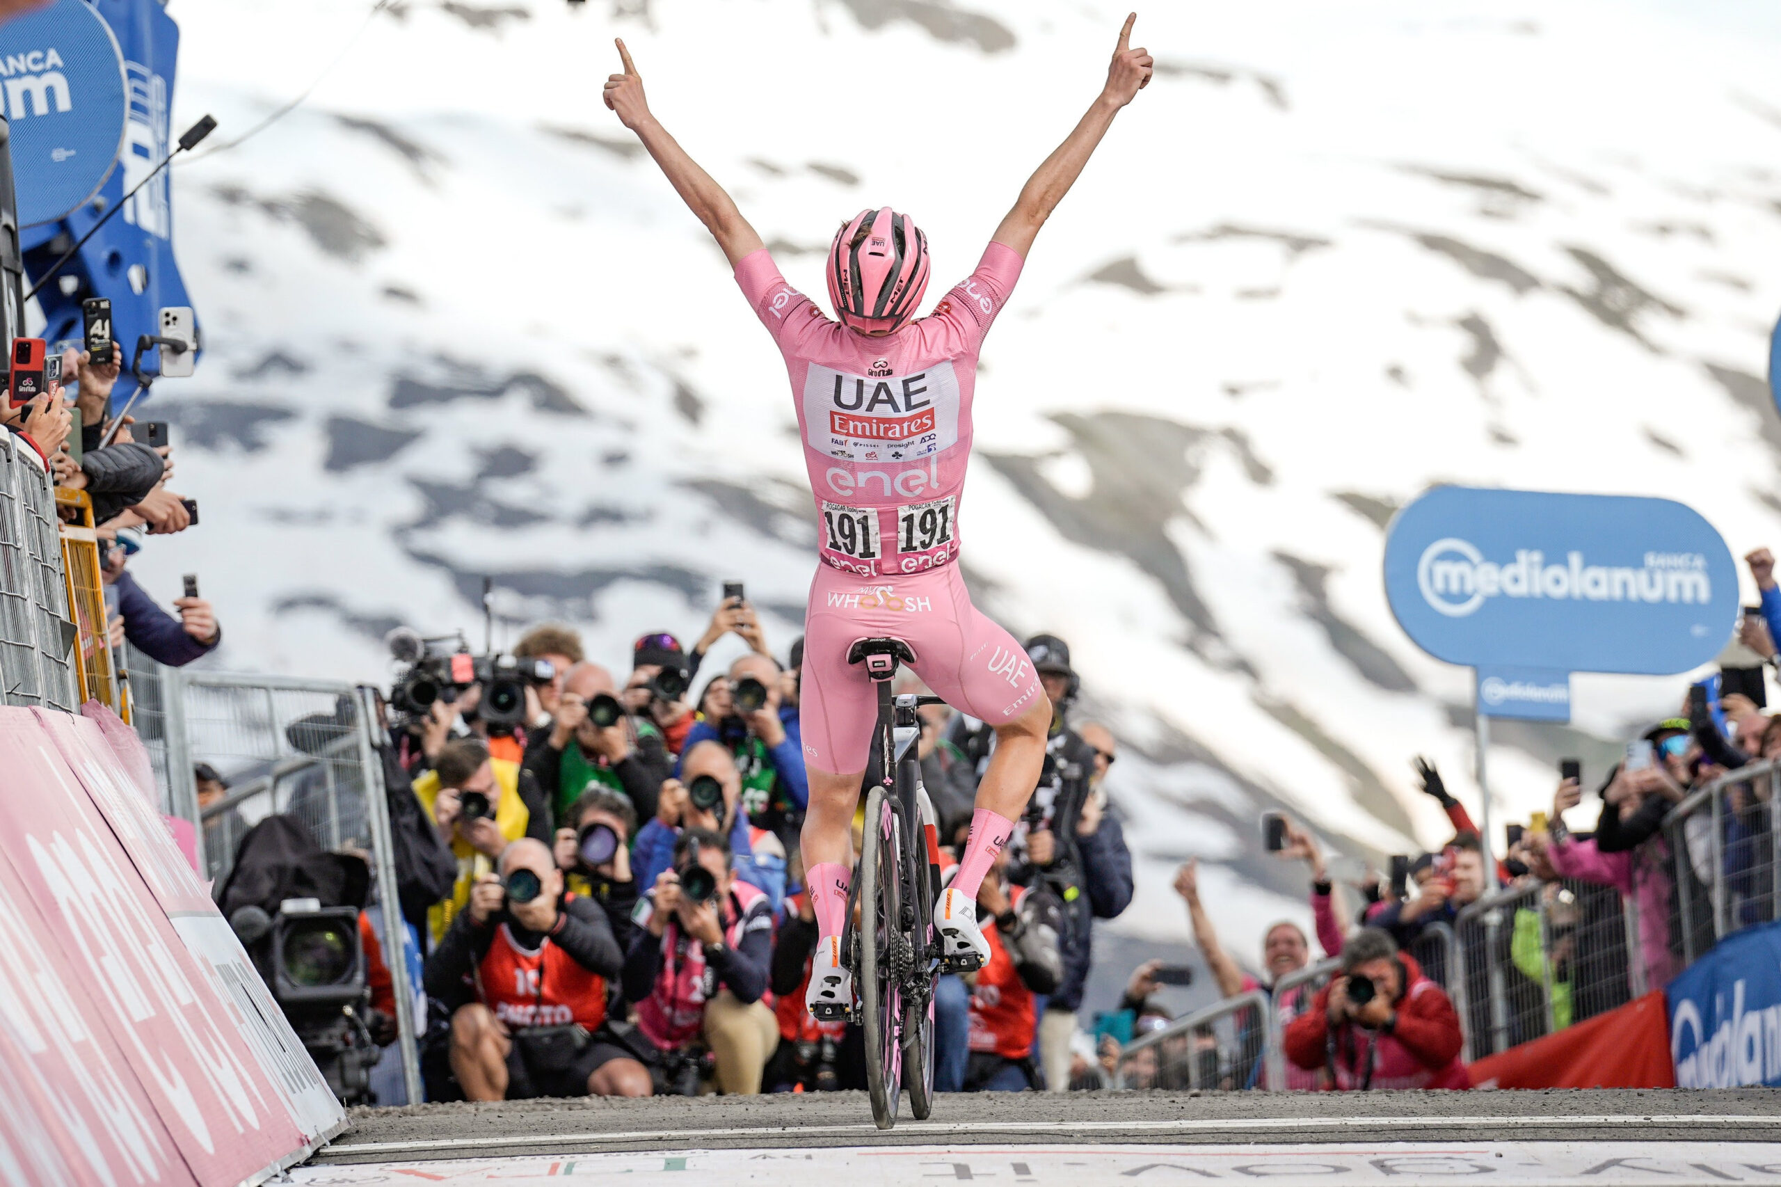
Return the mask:
<svg viewBox="0 0 1781 1187">
<path fill-rule="evenodd" d="M 614 695 L 613 674 L 598 663 L 568 668 L 550 729 L 533 731 L 525 770 L 561 816 L 590 786 L 630 798 L 638 816 L 654 816 L 671 770 L 661 734 L 645 733 Z"/>
</svg>

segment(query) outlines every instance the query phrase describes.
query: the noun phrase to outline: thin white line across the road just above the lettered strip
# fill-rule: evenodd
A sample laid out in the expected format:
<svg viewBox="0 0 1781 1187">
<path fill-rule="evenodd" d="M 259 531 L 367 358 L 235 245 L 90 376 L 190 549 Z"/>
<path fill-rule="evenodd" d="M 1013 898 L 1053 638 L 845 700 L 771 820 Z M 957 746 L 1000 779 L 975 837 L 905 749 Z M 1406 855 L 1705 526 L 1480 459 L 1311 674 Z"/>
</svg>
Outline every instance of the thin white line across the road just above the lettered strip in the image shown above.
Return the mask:
<svg viewBox="0 0 1781 1187">
<path fill-rule="evenodd" d="M 1697 1125 L 1735 1125 L 1745 1132 L 1781 1130 L 1781 1116 L 1728 1116 L 1728 1114 L 1649 1114 L 1649 1116 L 1549 1116 L 1549 1117 L 1234 1117 L 1179 1119 L 1179 1121 L 910 1121 L 898 1134 L 946 1137 L 947 1134 L 1304 1134 L 1305 1130 L 1354 1130 L 1375 1134 L 1402 1130 L 1528 1130 L 1528 1128 L 1622 1128 L 1646 1130 L 1655 1125 L 1688 1128 Z M 752 1125 L 736 1128 L 682 1128 L 632 1130 L 623 1134 L 516 1134 L 511 1137 L 447 1137 L 419 1142 L 342 1142 L 342 1155 L 397 1155 L 436 1150 L 513 1150 L 525 1146 L 600 1146 L 636 1142 L 698 1142 L 711 1137 L 753 1137 L 769 1134 L 812 1134 L 842 1137 L 848 1134 L 876 1134 L 873 1125 Z M 319 1155 L 326 1160 L 328 1151 Z"/>
</svg>

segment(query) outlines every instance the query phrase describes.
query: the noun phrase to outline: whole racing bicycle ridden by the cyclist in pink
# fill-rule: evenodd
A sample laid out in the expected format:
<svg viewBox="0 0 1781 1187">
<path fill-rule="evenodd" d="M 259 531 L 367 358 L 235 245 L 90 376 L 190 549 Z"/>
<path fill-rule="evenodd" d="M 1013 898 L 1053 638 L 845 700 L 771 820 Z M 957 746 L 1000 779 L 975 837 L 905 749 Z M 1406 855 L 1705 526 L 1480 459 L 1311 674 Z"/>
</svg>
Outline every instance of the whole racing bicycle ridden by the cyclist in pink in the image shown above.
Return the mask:
<svg viewBox="0 0 1781 1187">
<path fill-rule="evenodd" d="M 933 902 L 940 896 L 939 820 L 921 784 L 915 711 L 944 700 L 892 697 L 898 665 L 914 661 L 915 652 L 899 638 L 862 638 L 848 649 L 848 663 L 864 663 L 878 690 L 869 754 L 878 759 L 880 777 L 873 781 L 867 768 L 860 875 L 848 893 L 841 943 L 858 998 L 853 1016 L 866 1030 L 866 1085 L 880 1130 L 896 1125 L 903 1087 L 917 1121 L 933 1110 L 935 986 L 940 973 L 972 971 L 967 961 L 942 959 L 933 929 Z"/>
</svg>

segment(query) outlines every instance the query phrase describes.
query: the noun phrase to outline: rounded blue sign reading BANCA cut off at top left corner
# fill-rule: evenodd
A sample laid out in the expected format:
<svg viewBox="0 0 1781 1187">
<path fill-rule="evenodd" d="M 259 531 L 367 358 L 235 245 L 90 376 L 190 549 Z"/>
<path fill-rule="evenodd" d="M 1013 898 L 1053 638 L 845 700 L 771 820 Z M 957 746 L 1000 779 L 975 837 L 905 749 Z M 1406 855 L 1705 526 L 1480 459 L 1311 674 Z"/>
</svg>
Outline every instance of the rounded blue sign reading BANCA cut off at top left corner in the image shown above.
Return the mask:
<svg viewBox="0 0 1781 1187">
<path fill-rule="evenodd" d="M 82 0 L 0 25 L 20 226 L 59 219 L 105 184 L 123 146 L 125 89 L 118 39 Z"/>
</svg>

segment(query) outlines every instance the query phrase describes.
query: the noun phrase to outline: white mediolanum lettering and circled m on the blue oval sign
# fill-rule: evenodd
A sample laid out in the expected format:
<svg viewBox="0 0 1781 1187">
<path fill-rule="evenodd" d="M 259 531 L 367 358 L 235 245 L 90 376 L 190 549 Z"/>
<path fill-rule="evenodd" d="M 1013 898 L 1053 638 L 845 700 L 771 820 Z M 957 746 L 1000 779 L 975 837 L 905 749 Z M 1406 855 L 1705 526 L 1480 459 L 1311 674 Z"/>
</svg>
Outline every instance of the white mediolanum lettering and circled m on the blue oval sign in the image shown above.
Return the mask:
<svg viewBox="0 0 1781 1187">
<path fill-rule="evenodd" d="M 1539 549 L 1516 549 L 1512 561 L 1489 561 L 1469 540 L 1446 536 L 1423 549 L 1416 588 L 1450 618 L 1475 613 L 1491 597 L 1546 597 L 1590 602 L 1706 604 L 1713 586 L 1696 553 L 1646 553 L 1644 565 L 1590 565 L 1583 553 L 1546 563 Z"/>
</svg>

